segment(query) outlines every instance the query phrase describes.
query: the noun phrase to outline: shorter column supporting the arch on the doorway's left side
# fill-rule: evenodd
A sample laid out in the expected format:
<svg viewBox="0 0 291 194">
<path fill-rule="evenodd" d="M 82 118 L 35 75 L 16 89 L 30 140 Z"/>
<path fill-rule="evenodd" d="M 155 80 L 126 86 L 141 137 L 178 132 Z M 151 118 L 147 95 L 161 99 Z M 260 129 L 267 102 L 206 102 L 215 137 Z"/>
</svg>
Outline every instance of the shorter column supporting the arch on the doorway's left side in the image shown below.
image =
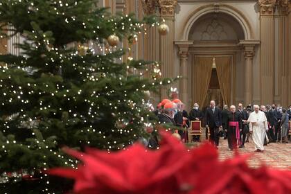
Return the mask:
<svg viewBox="0 0 291 194">
<path fill-rule="evenodd" d="M 179 98 L 188 107 L 188 91 L 187 91 L 187 60 L 188 60 L 188 47 L 193 44 L 193 42 L 175 42 L 179 47 L 179 59 L 180 59 L 180 78 L 179 80 Z"/>
</svg>

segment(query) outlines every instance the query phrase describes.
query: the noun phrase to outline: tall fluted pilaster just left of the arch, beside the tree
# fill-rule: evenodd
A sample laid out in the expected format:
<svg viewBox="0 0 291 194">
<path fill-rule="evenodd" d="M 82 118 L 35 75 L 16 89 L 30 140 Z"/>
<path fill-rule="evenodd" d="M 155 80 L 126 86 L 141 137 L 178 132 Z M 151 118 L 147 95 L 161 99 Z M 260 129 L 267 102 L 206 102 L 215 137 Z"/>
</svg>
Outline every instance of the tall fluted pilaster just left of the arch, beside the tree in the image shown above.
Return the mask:
<svg viewBox="0 0 291 194">
<path fill-rule="evenodd" d="M 159 0 L 160 17 L 169 27 L 167 35 L 160 36 L 161 73 L 164 78 L 173 78 L 174 73 L 174 39 L 175 39 L 175 6 L 177 0 Z M 168 98 L 168 87 L 161 89 L 161 98 Z"/>
</svg>

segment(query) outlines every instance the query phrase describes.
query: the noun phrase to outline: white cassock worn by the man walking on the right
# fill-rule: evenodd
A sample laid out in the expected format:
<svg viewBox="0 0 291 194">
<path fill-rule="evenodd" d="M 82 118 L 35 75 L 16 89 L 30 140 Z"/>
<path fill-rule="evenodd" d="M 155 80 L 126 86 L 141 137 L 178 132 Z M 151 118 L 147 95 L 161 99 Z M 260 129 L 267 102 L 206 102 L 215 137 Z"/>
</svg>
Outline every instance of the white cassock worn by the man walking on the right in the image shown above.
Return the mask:
<svg viewBox="0 0 291 194">
<path fill-rule="evenodd" d="M 253 132 L 253 141 L 256 150 L 264 150 L 264 141 L 267 131 L 267 118 L 264 112 L 258 111 L 249 114 L 249 131 Z"/>
</svg>

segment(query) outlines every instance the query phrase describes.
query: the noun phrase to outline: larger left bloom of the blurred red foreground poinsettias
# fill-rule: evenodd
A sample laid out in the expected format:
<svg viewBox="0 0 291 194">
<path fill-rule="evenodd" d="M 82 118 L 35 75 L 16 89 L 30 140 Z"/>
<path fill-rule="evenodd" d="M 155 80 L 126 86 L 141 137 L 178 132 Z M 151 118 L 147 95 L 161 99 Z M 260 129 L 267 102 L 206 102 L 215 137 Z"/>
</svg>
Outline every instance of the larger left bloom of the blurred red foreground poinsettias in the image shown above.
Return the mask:
<svg viewBox="0 0 291 194">
<path fill-rule="evenodd" d="M 84 165 L 78 166 L 78 170 L 56 168 L 49 173 L 75 179 L 76 193 L 179 193 L 176 174 L 190 155 L 170 134 L 162 134 L 164 142 L 157 151 L 146 150 L 137 143 L 110 154 L 93 149 L 86 153 L 66 149 Z"/>
</svg>

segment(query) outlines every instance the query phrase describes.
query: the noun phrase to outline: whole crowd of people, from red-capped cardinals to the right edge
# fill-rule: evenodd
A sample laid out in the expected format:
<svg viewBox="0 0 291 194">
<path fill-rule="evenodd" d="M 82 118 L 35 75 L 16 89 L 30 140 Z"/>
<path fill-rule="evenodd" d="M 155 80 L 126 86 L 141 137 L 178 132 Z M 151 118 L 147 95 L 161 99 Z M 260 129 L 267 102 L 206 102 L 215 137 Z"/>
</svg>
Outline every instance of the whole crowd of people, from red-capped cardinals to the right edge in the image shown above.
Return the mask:
<svg viewBox="0 0 291 194">
<path fill-rule="evenodd" d="M 256 152 L 263 152 L 268 143 L 288 143 L 289 123 L 291 120 L 291 106 L 284 109 L 281 105 L 247 105 L 239 103 L 236 107 L 224 105 L 222 110 L 211 100 L 209 107 L 204 111 L 197 103 L 193 109 L 186 112 L 181 100 L 164 99 L 157 105 L 155 114 L 159 123 L 168 123 L 177 126 L 176 133 L 182 141 L 200 141 L 200 136 L 187 139 L 187 130 L 191 121 L 201 121 L 205 127 L 206 139 L 209 139 L 218 148 L 220 138 L 227 139 L 229 150 L 245 148 L 249 137 L 255 144 Z M 179 130 L 180 129 L 180 130 Z M 208 136 L 210 132 L 210 136 Z"/>
</svg>

